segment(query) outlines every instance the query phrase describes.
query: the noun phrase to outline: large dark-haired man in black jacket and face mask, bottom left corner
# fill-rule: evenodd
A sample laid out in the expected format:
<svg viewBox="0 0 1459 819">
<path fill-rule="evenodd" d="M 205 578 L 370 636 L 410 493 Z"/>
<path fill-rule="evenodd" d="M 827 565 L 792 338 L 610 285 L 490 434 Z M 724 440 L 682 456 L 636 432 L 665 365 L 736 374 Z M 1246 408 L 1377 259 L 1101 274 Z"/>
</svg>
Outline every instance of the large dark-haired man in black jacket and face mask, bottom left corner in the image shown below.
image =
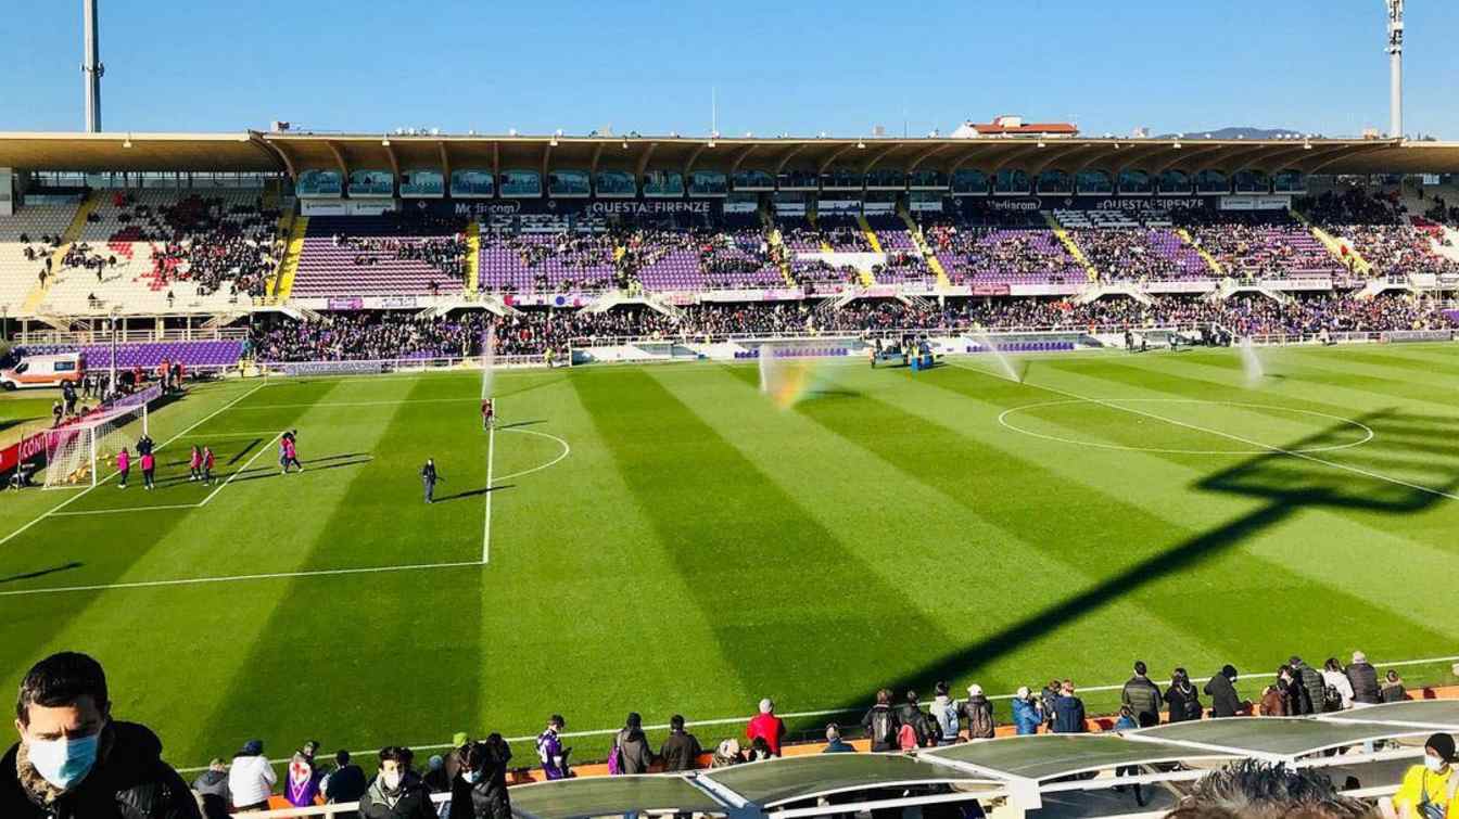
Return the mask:
<svg viewBox="0 0 1459 819">
<path fill-rule="evenodd" d="M 20 742 L 0 759 L 6 819 L 201 819 L 162 742 L 111 718 L 107 675 L 74 651 L 36 663 L 20 683 Z"/>
</svg>

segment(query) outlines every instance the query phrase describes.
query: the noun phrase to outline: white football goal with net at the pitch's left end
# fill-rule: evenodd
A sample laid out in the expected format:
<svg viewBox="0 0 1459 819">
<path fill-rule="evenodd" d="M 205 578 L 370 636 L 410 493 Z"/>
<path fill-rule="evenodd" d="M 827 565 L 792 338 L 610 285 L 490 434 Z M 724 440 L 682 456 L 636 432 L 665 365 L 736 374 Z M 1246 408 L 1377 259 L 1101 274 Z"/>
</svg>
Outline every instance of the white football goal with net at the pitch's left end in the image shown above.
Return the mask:
<svg viewBox="0 0 1459 819">
<path fill-rule="evenodd" d="M 160 388 L 147 388 L 95 415 L 47 430 L 45 488 L 95 487 L 123 447 L 136 452 L 137 439 L 147 431 L 147 404 L 160 395 Z"/>
</svg>

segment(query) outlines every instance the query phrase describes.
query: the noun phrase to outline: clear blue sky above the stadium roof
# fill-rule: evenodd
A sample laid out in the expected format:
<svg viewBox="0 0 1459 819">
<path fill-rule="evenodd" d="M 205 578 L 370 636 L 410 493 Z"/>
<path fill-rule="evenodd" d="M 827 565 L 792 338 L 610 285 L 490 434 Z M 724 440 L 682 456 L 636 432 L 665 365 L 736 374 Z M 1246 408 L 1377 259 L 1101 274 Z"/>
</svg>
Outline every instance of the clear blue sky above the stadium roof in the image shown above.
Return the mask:
<svg viewBox="0 0 1459 819">
<path fill-rule="evenodd" d="M 7 0 L 0 130 L 82 125 L 80 1 Z M 1386 130 L 1382 0 L 101 0 L 108 131 L 913 136 Z M 1405 131 L 1459 138 L 1459 3 L 1411 0 Z"/>
</svg>

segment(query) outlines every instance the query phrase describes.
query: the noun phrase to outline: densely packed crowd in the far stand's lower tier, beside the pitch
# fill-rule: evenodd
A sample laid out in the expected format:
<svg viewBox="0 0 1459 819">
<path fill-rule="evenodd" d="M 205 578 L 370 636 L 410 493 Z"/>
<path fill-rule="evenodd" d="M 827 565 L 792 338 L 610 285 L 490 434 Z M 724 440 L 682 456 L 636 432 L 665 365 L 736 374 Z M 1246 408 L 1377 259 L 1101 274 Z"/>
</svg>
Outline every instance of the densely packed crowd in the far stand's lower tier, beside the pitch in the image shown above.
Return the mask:
<svg viewBox="0 0 1459 819">
<path fill-rule="evenodd" d="M 409 312 L 328 313 L 318 321 L 260 321 L 251 345 L 266 361 L 388 360 L 476 356 L 490 313 L 419 319 Z M 1109 297 L 1090 303 L 1065 299 L 959 299 L 944 306 L 894 299 L 852 302 L 839 310 L 813 310 L 804 302 L 705 303 L 670 316 L 645 307 L 601 313 L 521 310 L 496 319 L 498 354 L 563 356 L 569 345 L 613 338 L 703 341 L 706 338 L 807 332 L 881 332 L 897 329 L 1068 329 L 1220 325 L 1234 335 L 1307 335 L 1447 329 L 1455 319 L 1428 300 L 1406 296 L 1309 296 L 1277 302 L 1236 296 L 1212 302 L 1164 296 L 1144 303 Z"/>
</svg>

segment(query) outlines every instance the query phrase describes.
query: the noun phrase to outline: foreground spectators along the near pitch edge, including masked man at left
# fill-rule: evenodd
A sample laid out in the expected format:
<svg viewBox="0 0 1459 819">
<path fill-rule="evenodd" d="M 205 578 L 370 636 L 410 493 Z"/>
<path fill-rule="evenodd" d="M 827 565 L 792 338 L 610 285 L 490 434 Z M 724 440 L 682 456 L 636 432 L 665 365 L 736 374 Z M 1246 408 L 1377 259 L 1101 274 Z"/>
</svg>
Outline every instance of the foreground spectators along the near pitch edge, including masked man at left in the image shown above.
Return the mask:
<svg viewBox="0 0 1459 819">
<path fill-rule="evenodd" d="M 1398 673 L 1392 669 L 1380 673 L 1363 651 L 1354 651 L 1347 665 L 1329 657 L 1320 670 L 1294 654 L 1261 688 L 1255 702 L 1240 697 L 1239 679 L 1239 672 L 1231 665 L 1224 665 L 1205 678 L 1204 685 L 1186 669 L 1176 667 L 1161 686 L 1151 679 L 1147 665 L 1137 660 L 1134 675 L 1121 686 L 1119 716 L 1113 720 L 1091 720 L 1071 679 L 1055 678 L 1042 691 L 1021 686 L 1002 713 L 994 704 L 998 698 L 988 697 L 978 683 L 966 688 L 966 697 L 959 697 L 951 683 L 937 682 L 932 688 L 934 698 L 926 704 L 922 704 L 916 691 L 905 691 L 899 697 L 883 688 L 859 724 L 843 727 L 830 723 L 824 727 L 820 752 L 855 753 L 861 746 L 872 752 L 916 752 L 983 742 L 999 733 L 1123 732 L 1207 717 L 1342 713 L 1408 698 Z M 127 700 L 118 697 L 117 701 Z M 19 740 L 0 761 L 0 815 L 16 819 L 225 819 L 235 813 L 268 810 L 282 802 L 298 809 L 357 803 L 359 816 L 368 819 L 429 819 L 444 815 L 457 819 L 508 819 L 512 815 L 512 791 L 508 785 L 518 781 L 522 772 L 535 769 L 546 780 L 576 775 L 572 749 L 563 742 L 568 723 L 560 714 L 553 714 L 533 740 L 533 753 L 522 759 L 515 758 L 511 742 L 500 733 L 471 739 L 468 732 L 458 732 L 449 743 L 438 746 L 441 753 L 429 756 L 423 764 L 417 764 L 410 748 L 387 745 L 365 764 L 374 768 L 368 774 L 350 752 L 338 751 L 328 759 L 321 753 L 322 745 L 318 740 L 308 740 L 287 758 L 280 777 L 266 753 L 264 742 L 251 739 L 231 758 L 214 758 L 188 783 L 163 761 L 158 736 L 146 726 L 117 718 L 111 705 L 112 692 L 107 673 L 95 659 L 61 651 L 35 663 L 19 686 Z M 1005 727 L 999 729 L 999 724 Z M 709 753 L 689 729 L 690 723 L 681 714 L 674 714 L 668 720 L 668 733 L 655 743 L 643 717 L 636 711 L 629 713 L 623 727 L 613 732 L 608 774 L 693 771 L 705 767 L 706 756 L 709 768 L 759 762 L 781 756 L 789 740 L 788 726 L 769 698 L 760 701 L 743 733 L 737 732 L 738 736 L 718 742 Z M 862 734 L 864 745 L 846 740 L 852 732 Z M 1371 742 L 1366 748 L 1376 749 Z M 1404 774 L 1396 793 L 1380 803 L 1383 810 L 1398 816 L 1444 816 L 1446 810 L 1452 815 L 1459 807 L 1452 804 L 1455 788 L 1449 787 L 1456 762 L 1459 758 L 1453 737 L 1446 733 L 1430 736 L 1424 742 L 1423 764 Z M 1138 767 L 1119 768 L 1115 771 L 1115 781 L 1139 774 Z M 1344 810 L 1336 813 L 1339 816 L 1373 815 L 1371 806 L 1345 800 L 1325 778 L 1282 784 L 1274 780 L 1281 775 L 1281 771 L 1262 768 L 1258 762 L 1237 762 L 1212 774 L 1215 783 L 1198 783 L 1170 816 L 1250 816 L 1253 806 L 1272 800 L 1306 802 L 1309 807 L 1317 803 L 1339 806 Z M 1261 787 L 1253 783 L 1242 785 L 1246 777 L 1261 780 Z M 1437 781 L 1436 787 L 1430 778 Z M 1118 785 L 1115 790 L 1134 790 L 1137 803 L 1145 804 L 1139 784 Z M 1236 802 L 1247 812 L 1201 812 L 1202 807 L 1211 809 L 1212 803 L 1230 806 Z M 1430 807 L 1436 810 L 1430 812 Z"/>
</svg>

